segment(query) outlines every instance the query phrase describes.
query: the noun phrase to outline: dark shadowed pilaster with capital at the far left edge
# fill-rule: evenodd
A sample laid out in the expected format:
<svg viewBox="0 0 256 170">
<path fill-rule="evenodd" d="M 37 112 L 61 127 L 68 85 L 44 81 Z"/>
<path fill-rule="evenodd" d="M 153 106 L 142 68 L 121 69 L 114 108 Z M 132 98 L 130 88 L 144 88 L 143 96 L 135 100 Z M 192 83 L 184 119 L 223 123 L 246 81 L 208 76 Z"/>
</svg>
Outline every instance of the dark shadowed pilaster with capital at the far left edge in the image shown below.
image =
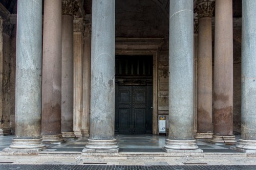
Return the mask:
<svg viewBox="0 0 256 170">
<path fill-rule="evenodd" d="M 10 130 L 10 36 L 12 25 L 0 18 L 0 136 Z"/>
</svg>

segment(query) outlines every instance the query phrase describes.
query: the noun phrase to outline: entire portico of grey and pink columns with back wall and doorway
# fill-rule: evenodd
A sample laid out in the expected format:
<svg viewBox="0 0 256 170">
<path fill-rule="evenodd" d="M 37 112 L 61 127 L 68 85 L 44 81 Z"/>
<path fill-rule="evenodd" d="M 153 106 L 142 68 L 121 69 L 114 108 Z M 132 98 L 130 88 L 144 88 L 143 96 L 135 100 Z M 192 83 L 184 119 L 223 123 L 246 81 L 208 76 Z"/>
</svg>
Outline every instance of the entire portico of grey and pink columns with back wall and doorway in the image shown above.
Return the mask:
<svg viewBox="0 0 256 170">
<path fill-rule="evenodd" d="M 202 153 L 195 138 L 256 152 L 254 0 L 0 9 L 0 135 L 15 135 L 4 152 L 88 136 L 84 155 L 115 154 L 115 134 L 158 135 L 160 117 L 167 153 Z"/>
</svg>

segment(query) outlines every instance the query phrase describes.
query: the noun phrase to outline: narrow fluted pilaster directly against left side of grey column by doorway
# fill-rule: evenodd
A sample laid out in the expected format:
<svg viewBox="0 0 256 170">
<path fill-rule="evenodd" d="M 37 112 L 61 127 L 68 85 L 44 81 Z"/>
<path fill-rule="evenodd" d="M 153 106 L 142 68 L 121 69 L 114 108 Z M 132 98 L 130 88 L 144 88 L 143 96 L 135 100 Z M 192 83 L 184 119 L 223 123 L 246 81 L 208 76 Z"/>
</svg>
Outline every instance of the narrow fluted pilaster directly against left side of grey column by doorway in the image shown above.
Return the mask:
<svg viewBox="0 0 256 170">
<path fill-rule="evenodd" d="M 82 76 L 82 134 L 89 136 L 90 134 L 90 89 L 91 89 L 91 34 L 92 25 L 86 23 L 84 30 L 84 54 L 83 54 L 83 76 Z"/>
</svg>

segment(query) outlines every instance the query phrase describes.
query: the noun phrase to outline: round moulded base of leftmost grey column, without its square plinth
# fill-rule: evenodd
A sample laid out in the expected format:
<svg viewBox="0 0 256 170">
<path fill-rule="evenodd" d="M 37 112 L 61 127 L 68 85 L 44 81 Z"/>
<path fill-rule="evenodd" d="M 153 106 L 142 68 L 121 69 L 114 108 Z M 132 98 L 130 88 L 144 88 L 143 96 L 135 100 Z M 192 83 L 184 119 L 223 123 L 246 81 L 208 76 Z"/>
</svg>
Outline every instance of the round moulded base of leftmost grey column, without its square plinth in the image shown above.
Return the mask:
<svg viewBox="0 0 256 170">
<path fill-rule="evenodd" d="M 9 148 L 12 149 L 42 149 L 45 148 L 46 145 L 42 143 L 42 138 L 38 139 L 19 139 L 13 138 L 12 144 Z"/>
</svg>

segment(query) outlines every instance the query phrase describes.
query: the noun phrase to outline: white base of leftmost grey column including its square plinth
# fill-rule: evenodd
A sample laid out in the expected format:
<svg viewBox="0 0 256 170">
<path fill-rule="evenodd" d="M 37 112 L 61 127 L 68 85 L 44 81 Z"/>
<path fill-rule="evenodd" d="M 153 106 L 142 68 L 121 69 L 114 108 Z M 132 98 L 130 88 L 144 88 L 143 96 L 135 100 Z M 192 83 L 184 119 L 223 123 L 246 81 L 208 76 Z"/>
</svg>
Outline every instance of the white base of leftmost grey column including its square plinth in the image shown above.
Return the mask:
<svg viewBox="0 0 256 170">
<path fill-rule="evenodd" d="M 9 148 L 3 150 L 2 155 L 37 155 L 46 149 L 46 145 L 39 139 L 12 139 Z"/>
</svg>

